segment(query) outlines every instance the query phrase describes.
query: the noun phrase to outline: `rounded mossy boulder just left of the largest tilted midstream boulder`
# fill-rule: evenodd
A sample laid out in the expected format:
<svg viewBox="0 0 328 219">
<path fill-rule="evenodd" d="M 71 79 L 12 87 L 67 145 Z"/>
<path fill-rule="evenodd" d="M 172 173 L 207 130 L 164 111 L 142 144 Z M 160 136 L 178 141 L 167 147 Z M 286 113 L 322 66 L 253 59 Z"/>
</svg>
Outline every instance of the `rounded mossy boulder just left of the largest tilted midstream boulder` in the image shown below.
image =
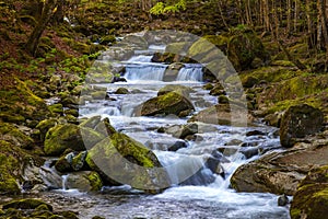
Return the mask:
<svg viewBox="0 0 328 219">
<path fill-rule="evenodd" d="M 44 150 L 47 155 L 60 155 L 68 148 L 82 151 L 85 146 L 92 147 L 102 139 L 104 136 L 91 128 L 73 124 L 57 125 L 47 132 Z"/>
</svg>

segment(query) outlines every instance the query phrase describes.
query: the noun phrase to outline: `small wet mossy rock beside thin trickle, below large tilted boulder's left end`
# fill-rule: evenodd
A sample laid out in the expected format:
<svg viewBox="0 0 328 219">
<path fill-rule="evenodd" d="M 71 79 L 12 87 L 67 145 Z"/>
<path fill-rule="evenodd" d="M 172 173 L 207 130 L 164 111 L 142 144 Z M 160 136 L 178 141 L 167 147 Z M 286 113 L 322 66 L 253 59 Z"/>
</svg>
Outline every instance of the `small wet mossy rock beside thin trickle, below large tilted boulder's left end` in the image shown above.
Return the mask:
<svg viewBox="0 0 328 219">
<path fill-rule="evenodd" d="M 82 192 L 99 191 L 103 187 L 101 176 L 94 171 L 80 171 L 70 173 L 66 178 L 67 189 L 79 189 Z"/>
</svg>

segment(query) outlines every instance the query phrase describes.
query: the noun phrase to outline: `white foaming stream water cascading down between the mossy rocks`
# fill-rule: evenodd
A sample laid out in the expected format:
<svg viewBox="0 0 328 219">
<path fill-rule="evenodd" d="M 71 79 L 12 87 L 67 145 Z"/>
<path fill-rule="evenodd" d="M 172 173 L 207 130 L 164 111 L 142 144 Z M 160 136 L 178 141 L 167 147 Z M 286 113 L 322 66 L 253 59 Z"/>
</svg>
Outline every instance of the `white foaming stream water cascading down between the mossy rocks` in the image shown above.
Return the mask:
<svg viewBox="0 0 328 219">
<path fill-rule="evenodd" d="M 156 96 L 159 89 L 164 85 L 191 87 L 196 91 L 190 95 L 196 112 L 216 104 L 216 97 L 201 89 L 203 85 L 201 66 L 185 65 L 175 81 L 163 82 L 167 65 L 151 62 L 149 50 L 140 51 L 124 65 L 128 82 L 102 84 L 107 88 L 108 95 L 116 101 L 90 102 L 85 107 L 80 108 L 80 114 L 82 116 L 103 115 L 109 117 L 112 125 L 117 130 L 151 148 L 161 163 L 167 168 L 173 182 L 172 187 L 157 195 L 144 194 L 128 185 L 104 187 L 101 193 L 94 194 L 74 189 L 57 189 L 43 193 L 43 198 L 51 201 L 56 209 L 79 211 L 81 218 L 92 218 L 96 215 L 105 218 L 127 219 L 289 218 L 289 208 L 278 207 L 278 196 L 236 193 L 230 188 L 230 177 L 239 165 L 258 159 L 258 151 L 279 149 L 280 142 L 274 134 L 276 128 L 263 125 L 244 128 L 199 125 L 196 139 L 186 142 L 173 135 L 157 132 L 161 127 L 187 123 L 187 118 L 176 116 L 141 117 L 136 114 L 136 108 L 144 101 Z M 118 88 L 127 88 L 130 94 L 114 94 Z M 261 134 L 245 135 L 253 130 Z M 183 142 L 184 147 L 177 151 L 169 151 L 168 148 L 177 141 Z M 241 147 L 242 145 L 243 147 Z M 213 172 L 213 169 L 206 164 L 207 158 L 213 155 L 213 151 L 216 151 L 220 157 L 220 166 L 224 170 L 224 174 L 220 171 Z M 253 153 L 249 155 L 247 151 L 253 151 Z M 179 164 L 169 168 L 176 162 Z M 184 174 L 188 175 L 195 170 L 198 170 L 197 173 L 186 180 L 187 176 Z M 63 176 L 65 178 L 66 176 Z M 181 178 L 186 181 L 180 183 Z"/>
</svg>

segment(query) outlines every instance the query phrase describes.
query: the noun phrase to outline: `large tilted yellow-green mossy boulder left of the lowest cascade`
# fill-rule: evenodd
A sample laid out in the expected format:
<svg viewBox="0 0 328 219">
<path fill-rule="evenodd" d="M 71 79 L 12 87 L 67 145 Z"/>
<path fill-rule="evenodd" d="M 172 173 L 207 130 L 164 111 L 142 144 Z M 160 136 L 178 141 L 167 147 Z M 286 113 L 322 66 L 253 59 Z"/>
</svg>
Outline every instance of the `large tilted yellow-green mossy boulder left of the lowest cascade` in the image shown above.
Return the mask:
<svg viewBox="0 0 328 219">
<path fill-rule="evenodd" d="M 168 186 L 166 172 L 162 169 L 152 171 L 153 168 L 162 168 L 155 154 L 120 132 L 113 134 L 89 150 L 86 163 L 101 174 L 105 184 L 129 184 L 143 191 Z"/>
</svg>

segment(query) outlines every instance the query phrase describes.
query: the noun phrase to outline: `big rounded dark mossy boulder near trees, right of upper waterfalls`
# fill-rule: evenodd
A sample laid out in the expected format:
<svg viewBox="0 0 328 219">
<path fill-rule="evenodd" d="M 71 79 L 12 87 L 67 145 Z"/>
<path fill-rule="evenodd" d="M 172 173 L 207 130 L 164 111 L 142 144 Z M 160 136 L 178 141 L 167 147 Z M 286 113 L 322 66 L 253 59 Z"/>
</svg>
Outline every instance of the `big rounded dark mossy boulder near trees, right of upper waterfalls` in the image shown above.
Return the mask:
<svg viewBox="0 0 328 219">
<path fill-rule="evenodd" d="M 236 70 L 249 69 L 256 57 L 266 61 L 268 54 L 254 32 L 238 33 L 231 37 L 227 44 L 227 58 Z"/>
</svg>

